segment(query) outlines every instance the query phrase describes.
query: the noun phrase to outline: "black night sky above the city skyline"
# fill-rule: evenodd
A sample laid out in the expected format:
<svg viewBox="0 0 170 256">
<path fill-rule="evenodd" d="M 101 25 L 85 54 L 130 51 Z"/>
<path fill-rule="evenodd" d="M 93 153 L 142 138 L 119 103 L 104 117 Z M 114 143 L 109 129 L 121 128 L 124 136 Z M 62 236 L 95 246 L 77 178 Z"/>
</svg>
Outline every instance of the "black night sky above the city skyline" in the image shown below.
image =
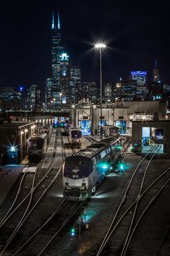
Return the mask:
<svg viewBox="0 0 170 256">
<path fill-rule="evenodd" d="M 6 1 L 0 7 L 0 85 L 45 87 L 51 77 L 51 19 L 61 16 L 61 34 L 82 81 L 99 80 L 94 41 L 102 54 L 103 81 L 116 83 L 131 70 L 146 70 L 155 59 L 160 78 L 170 83 L 169 8 L 163 1 Z"/>
</svg>

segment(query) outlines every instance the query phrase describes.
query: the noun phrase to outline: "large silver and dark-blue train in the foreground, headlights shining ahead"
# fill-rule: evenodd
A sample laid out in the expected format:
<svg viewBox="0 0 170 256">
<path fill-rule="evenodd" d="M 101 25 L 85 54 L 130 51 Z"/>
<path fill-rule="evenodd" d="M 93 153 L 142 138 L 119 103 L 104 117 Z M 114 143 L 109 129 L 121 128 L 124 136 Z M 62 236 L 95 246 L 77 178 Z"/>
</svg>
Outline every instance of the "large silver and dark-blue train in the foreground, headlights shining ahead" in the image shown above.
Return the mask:
<svg viewBox="0 0 170 256">
<path fill-rule="evenodd" d="M 121 138 L 109 137 L 66 157 L 63 165 L 63 194 L 69 200 L 83 200 L 96 186 L 121 154 Z"/>
</svg>

